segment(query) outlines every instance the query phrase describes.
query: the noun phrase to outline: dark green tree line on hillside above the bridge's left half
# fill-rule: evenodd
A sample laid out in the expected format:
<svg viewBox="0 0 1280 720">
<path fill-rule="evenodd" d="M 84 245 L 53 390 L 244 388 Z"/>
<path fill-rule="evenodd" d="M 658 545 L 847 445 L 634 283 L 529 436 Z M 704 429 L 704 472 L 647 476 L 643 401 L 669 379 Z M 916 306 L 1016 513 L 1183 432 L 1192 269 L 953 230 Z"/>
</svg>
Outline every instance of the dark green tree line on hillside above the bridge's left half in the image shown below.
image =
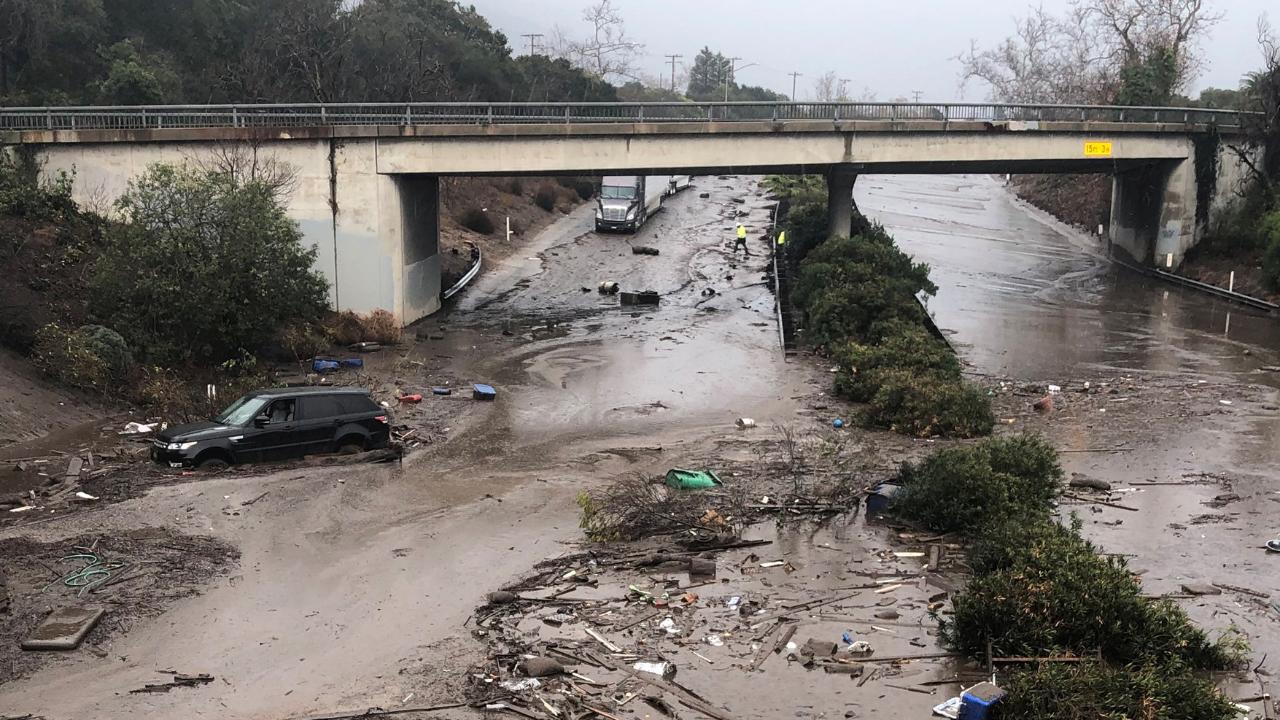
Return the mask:
<svg viewBox="0 0 1280 720">
<path fill-rule="evenodd" d="M 0 104 L 611 101 L 453 0 L 0 0 Z"/>
</svg>

